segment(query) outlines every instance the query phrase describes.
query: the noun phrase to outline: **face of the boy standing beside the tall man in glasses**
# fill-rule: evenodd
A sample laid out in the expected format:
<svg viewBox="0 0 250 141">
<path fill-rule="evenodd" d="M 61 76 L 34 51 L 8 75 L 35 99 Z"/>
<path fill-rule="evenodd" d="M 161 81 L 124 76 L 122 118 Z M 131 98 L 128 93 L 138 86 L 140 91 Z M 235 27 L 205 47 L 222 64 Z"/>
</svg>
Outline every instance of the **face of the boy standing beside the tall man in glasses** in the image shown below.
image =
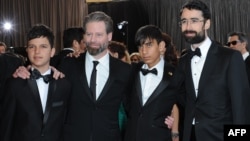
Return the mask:
<svg viewBox="0 0 250 141">
<path fill-rule="evenodd" d="M 145 43 L 139 46 L 142 60 L 149 68 L 155 66 L 160 61 L 164 46 L 165 43 L 163 41 L 158 44 L 155 39 L 146 39 Z"/>
</svg>

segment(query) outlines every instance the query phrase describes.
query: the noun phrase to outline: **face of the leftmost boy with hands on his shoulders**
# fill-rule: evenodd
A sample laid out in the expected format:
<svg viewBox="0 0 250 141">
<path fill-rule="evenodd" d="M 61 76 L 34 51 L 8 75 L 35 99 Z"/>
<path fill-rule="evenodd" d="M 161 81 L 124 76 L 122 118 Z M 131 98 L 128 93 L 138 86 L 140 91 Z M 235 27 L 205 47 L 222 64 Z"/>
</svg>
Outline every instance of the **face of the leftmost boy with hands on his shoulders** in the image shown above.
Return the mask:
<svg viewBox="0 0 250 141">
<path fill-rule="evenodd" d="M 55 54 L 55 48 L 51 47 L 46 37 L 29 40 L 26 51 L 31 65 L 41 73 L 48 70 L 50 58 Z"/>
</svg>

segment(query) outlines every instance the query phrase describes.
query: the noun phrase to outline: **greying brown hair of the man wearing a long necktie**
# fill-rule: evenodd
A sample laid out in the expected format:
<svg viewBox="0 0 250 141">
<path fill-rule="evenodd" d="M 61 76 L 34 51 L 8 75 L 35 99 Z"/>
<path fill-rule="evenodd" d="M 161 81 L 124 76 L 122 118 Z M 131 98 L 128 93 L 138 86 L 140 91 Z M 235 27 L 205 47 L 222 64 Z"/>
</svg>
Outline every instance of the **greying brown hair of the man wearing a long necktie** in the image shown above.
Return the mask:
<svg viewBox="0 0 250 141">
<path fill-rule="evenodd" d="M 106 26 L 106 32 L 112 33 L 113 32 L 113 20 L 110 16 L 105 14 L 102 11 L 95 11 L 88 14 L 83 21 L 83 29 L 86 31 L 86 24 L 89 22 L 104 22 Z"/>
</svg>

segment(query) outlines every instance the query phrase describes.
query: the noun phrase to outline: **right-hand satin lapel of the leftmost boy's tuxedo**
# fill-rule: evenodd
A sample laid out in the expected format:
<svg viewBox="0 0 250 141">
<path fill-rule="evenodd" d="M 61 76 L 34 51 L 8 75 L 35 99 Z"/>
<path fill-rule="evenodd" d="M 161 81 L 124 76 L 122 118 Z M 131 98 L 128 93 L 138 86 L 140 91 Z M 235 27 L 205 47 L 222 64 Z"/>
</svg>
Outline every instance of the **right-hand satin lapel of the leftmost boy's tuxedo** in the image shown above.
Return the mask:
<svg viewBox="0 0 250 141">
<path fill-rule="evenodd" d="M 55 80 L 52 80 L 49 83 L 49 90 L 48 90 L 48 96 L 47 96 L 47 102 L 46 102 L 46 108 L 45 108 L 45 112 L 44 112 L 44 116 L 43 116 L 43 125 L 45 125 L 48 121 L 49 118 L 49 113 L 51 110 L 51 104 L 52 104 L 52 95 L 55 93 L 56 91 L 56 82 Z"/>
</svg>

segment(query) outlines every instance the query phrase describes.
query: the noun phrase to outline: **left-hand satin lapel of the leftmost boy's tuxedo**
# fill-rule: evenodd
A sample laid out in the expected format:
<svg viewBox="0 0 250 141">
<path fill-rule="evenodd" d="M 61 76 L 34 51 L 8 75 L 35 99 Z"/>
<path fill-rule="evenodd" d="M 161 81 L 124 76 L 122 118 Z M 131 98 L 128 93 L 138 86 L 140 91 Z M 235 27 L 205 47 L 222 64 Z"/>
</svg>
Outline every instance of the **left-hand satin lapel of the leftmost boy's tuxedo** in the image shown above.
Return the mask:
<svg viewBox="0 0 250 141">
<path fill-rule="evenodd" d="M 43 114 L 42 103 L 41 103 L 40 94 L 39 94 L 39 90 L 38 90 L 36 80 L 28 79 L 27 81 L 28 81 L 28 85 L 29 85 L 29 87 L 30 87 L 30 89 L 32 91 L 32 94 L 34 96 L 35 103 L 36 103 L 39 111 Z"/>
</svg>

